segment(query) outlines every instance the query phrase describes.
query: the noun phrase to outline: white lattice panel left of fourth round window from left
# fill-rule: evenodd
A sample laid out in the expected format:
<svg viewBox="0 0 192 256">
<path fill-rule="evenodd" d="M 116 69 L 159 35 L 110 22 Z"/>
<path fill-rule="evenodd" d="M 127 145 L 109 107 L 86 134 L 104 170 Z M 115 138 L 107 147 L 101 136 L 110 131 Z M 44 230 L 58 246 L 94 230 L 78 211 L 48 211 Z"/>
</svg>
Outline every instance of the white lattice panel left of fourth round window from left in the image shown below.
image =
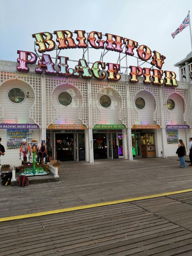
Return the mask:
<svg viewBox="0 0 192 256">
<path fill-rule="evenodd" d="M 138 113 L 134 107 L 134 97 L 139 92 L 145 89 L 144 85 L 129 83 L 129 102 L 130 102 L 130 124 L 131 127 L 138 120 Z"/>
</svg>

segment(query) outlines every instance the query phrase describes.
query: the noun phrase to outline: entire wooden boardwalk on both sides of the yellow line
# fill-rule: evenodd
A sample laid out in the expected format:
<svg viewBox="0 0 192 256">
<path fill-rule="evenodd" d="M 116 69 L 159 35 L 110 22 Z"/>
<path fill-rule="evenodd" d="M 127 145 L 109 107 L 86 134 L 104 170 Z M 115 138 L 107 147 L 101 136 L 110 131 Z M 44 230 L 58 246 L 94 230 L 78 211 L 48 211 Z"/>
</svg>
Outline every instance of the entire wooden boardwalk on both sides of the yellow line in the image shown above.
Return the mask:
<svg viewBox="0 0 192 256">
<path fill-rule="evenodd" d="M 0 217 L 192 188 L 192 168 L 176 158 L 62 171 L 59 182 L 0 187 Z M 9 255 L 192 256 L 192 192 L 1 222 L 0 256 Z"/>
</svg>

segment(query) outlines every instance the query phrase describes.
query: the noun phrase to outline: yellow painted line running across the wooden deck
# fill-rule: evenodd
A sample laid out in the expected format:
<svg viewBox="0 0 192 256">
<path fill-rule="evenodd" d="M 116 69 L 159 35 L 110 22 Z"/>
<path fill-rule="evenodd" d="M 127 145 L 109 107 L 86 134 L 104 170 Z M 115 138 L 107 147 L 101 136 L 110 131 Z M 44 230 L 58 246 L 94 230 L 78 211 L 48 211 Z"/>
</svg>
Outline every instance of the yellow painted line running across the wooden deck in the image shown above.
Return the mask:
<svg viewBox="0 0 192 256">
<path fill-rule="evenodd" d="M 117 201 L 97 203 L 97 204 L 92 204 L 92 205 L 81 205 L 81 206 L 75 206 L 75 207 L 52 210 L 52 211 L 41 211 L 41 212 L 36 212 L 36 213 L 10 216 L 10 217 L 5 217 L 5 218 L 0 218 L 0 222 L 9 221 L 9 220 L 20 220 L 20 219 L 26 219 L 26 218 L 33 218 L 33 217 L 39 217 L 39 216 L 43 216 L 43 215 L 63 213 L 63 212 L 67 212 L 67 211 L 77 211 L 77 210 L 89 209 L 89 208 L 106 206 L 106 205 L 116 205 L 116 204 L 120 204 L 120 203 L 128 203 L 128 202 L 133 202 L 133 201 L 156 198 L 156 197 L 161 197 L 161 196 L 169 196 L 169 195 L 186 193 L 186 192 L 192 192 L 192 188 L 185 189 L 185 190 L 173 191 L 173 192 L 166 192 L 166 193 L 161 193 L 161 194 L 155 194 L 155 195 L 149 195 L 149 196 L 140 196 L 140 197 L 122 199 L 122 200 L 117 200 Z"/>
</svg>

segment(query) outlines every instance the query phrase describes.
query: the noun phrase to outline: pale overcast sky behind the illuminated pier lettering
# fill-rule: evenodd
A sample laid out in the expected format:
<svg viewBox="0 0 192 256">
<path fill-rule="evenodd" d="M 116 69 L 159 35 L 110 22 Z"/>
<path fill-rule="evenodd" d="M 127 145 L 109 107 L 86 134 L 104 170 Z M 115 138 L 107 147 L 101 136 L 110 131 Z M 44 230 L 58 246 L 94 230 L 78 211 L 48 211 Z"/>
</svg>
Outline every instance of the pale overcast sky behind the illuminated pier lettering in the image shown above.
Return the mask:
<svg viewBox="0 0 192 256">
<path fill-rule="evenodd" d="M 0 60 L 17 61 L 17 50 L 34 52 L 32 34 L 54 30 L 94 30 L 132 39 L 166 56 L 162 69 L 174 71 L 177 79 L 174 64 L 192 51 L 189 26 L 174 39 L 171 36 L 189 10 L 192 19 L 192 0 L 0 0 L 0 6 Z M 62 51 L 60 55 L 70 59 L 81 58 L 77 49 Z M 97 61 L 100 50 L 93 49 L 90 55 L 94 56 L 90 61 Z M 105 62 L 114 58 L 118 53 L 110 52 Z M 128 66 L 135 65 L 135 60 L 129 57 Z"/>
</svg>

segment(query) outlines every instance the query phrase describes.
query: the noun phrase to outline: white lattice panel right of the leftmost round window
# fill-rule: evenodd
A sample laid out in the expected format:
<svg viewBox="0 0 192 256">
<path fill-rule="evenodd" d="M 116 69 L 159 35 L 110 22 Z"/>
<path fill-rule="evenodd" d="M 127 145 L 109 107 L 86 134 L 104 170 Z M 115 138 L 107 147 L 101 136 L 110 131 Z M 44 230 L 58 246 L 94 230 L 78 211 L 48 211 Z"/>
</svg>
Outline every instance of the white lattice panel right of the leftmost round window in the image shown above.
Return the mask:
<svg viewBox="0 0 192 256">
<path fill-rule="evenodd" d="M 18 74 L 18 78 L 28 82 L 35 92 L 35 103 L 30 109 L 30 118 L 41 126 L 41 76 L 35 74 Z"/>
</svg>

